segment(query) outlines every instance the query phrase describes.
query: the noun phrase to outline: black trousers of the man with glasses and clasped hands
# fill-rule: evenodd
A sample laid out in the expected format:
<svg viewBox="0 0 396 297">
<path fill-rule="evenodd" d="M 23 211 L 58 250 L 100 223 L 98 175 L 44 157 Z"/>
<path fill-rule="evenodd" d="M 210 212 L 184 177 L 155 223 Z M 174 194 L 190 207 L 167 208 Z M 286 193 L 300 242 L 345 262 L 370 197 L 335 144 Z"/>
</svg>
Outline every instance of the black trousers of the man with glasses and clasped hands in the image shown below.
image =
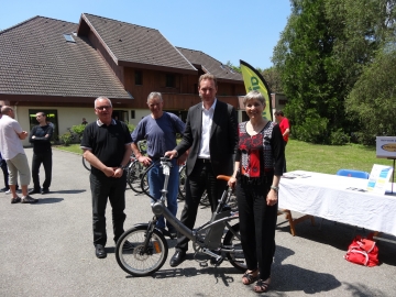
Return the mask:
<svg viewBox="0 0 396 297">
<path fill-rule="evenodd" d="M 105 174 L 99 174 L 99 176 L 90 174 L 89 182 L 92 194 L 94 245 L 105 246 L 107 242 L 105 215 L 108 199 L 112 209 L 114 242 L 124 232 L 127 174 L 124 173 L 120 178 L 106 177 Z"/>
</svg>

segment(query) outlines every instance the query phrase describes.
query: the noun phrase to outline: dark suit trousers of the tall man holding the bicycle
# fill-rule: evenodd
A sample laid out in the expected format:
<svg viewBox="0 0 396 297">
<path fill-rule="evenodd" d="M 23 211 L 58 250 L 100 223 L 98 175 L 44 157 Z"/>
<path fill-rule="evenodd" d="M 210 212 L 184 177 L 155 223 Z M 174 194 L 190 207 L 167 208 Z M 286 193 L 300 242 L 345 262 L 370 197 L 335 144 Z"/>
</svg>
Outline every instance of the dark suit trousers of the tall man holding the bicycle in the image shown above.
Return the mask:
<svg viewBox="0 0 396 297">
<path fill-rule="evenodd" d="M 202 163 L 197 160 L 191 174 L 187 176 L 186 200 L 180 221 L 189 229 L 193 229 L 197 219 L 199 201 L 204 191 L 207 190 L 208 193 L 211 211 L 213 212 L 226 186 L 227 182 L 216 179 L 210 163 Z M 176 249 L 187 251 L 188 241 L 188 238 L 178 234 Z"/>
</svg>

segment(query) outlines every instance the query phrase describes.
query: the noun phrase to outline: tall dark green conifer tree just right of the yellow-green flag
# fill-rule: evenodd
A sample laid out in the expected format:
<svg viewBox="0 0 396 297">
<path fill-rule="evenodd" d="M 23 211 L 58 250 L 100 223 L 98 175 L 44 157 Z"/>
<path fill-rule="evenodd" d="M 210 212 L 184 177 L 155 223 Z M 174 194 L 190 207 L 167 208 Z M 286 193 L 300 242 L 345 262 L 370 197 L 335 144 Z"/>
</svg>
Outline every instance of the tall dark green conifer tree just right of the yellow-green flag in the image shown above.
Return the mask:
<svg viewBox="0 0 396 297">
<path fill-rule="evenodd" d="M 326 20 L 324 0 L 294 0 L 293 12 L 274 50 L 273 63 L 280 73 L 289 99 L 286 114 L 293 135 L 314 143 L 329 143 L 343 119 L 342 84 L 332 62 L 334 36 Z"/>
</svg>

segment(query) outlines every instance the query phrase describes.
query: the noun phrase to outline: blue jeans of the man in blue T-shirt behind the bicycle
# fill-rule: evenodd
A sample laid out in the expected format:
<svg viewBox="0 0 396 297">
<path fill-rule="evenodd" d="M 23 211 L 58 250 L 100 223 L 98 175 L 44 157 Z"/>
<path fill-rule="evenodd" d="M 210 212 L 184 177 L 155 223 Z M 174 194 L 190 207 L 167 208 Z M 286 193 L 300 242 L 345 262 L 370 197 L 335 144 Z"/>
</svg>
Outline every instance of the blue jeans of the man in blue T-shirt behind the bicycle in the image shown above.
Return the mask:
<svg viewBox="0 0 396 297">
<path fill-rule="evenodd" d="M 177 213 L 177 194 L 178 194 L 178 165 L 176 164 L 176 160 L 172 161 L 173 167 L 170 168 L 170 176 L 168 180 L 168 188 L 166 194 L 166 207 L 172 212 L 172 215 L 176 216 Z M 150 195 L 156 199 L 161 198 L 161 190 L 164 187 L 165 175 L 163 174 L 163 168 L 161 167 L 161 163 L 155 164 L 151 170 L 148 172 L 148 185 L 150 185 Z M 154 202 L 154 201 L 152 201 Z M 165 219 L 163 216 L 158 218 L 157 222 L 158 228 L 165 228 Z M 169 231 L 174 231 L 175 228 L 166 222 L 166 227 Z"/>
</svg>

